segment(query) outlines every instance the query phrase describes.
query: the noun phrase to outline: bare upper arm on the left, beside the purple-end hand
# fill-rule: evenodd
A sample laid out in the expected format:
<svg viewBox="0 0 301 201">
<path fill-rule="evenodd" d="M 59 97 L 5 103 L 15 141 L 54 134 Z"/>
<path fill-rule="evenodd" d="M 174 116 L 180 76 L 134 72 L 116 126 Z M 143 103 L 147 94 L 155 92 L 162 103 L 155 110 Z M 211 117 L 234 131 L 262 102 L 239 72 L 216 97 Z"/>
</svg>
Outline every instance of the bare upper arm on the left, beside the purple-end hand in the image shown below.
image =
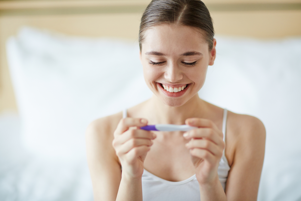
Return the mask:
<svg viewBox="0 0 301 201">
<path fill-rule="evenodd" d="M 87 160 L 95 201 L 115 201 L 121 180 L 120 164 L 112 146 L 112 120 L 114 118 L 110 117 L 95 120 L 86 131 Z"/>
</svg>

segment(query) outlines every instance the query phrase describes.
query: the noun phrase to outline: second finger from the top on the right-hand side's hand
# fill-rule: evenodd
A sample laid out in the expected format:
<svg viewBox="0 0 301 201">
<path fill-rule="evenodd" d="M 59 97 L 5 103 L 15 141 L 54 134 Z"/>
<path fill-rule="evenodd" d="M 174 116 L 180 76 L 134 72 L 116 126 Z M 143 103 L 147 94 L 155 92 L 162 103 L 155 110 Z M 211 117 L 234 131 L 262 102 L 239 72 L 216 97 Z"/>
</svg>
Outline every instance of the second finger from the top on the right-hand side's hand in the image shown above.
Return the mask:
<svg viewBox="0 0 301 201">
<path fill-rule="evenodd" d="M 206 138 L 212 141 L 213 143 L 221 146 L 224 144 L 222 136 L 218 133 L 220 131 L 213 130 L 212 128 L 196 128 L 189 130 L 183 134 L 183 137 L 187 140 L 192 138 Z"/>
</svg>

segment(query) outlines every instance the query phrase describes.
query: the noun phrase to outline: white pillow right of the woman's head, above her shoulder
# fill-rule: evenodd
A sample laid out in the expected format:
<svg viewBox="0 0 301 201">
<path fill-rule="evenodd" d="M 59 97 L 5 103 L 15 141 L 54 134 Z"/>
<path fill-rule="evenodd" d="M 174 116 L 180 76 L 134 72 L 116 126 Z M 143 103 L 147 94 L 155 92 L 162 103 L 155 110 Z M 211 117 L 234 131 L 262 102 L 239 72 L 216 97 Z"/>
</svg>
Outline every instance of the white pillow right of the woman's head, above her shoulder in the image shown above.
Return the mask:
<svg viewBox="0 0 301 201">
<path fill-rule="evenodd" d="M 286 151 L 301 150 L 301 135 L 296 134 L 301 133 L 297 126 L 301 122 L 301 38 L 216 38 L 216 61 L 208 67 L 200 96 L 231 111 L 261 119 L 268 133 L 267 153 L 269 146 L 276 149 L 275 143 L 286 140 L 290 144 Z M 277 153 L 284 154 L 279 149 Z"/>
</svg>

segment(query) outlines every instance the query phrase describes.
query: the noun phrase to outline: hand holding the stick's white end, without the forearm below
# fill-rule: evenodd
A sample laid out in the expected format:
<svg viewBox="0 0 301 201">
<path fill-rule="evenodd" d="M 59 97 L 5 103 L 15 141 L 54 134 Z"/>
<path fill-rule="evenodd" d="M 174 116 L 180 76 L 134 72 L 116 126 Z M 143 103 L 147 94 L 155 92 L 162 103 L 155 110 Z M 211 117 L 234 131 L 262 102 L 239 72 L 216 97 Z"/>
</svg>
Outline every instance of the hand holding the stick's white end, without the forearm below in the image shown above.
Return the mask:
<svg viewBox="0 0 301 201">
<path fill-rule="evenodd" d="M 186 147 L 190 150 L 197 181 L 199 184 L 214 182 L 218 177 L 217 168 L 225 148 L 223 133 L 208 119 L 189 118 L 185 124 L 198 127 L 183 135 L 190 140 Z"/>
</svg>

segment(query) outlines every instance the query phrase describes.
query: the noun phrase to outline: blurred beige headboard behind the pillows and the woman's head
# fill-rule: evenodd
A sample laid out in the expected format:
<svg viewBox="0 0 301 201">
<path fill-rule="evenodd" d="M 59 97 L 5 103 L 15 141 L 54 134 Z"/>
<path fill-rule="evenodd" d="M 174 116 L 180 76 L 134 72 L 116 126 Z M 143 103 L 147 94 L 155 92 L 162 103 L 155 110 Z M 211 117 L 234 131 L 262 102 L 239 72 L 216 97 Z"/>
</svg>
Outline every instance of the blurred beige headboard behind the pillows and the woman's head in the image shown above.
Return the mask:
<svg viewBox="0 0 301 201">
<path fill-rule="evenodd" d="M 0 112 L 17 111 L 5 42 L 22 26 L 74 36 L 137 42 L 141 14 L 150 0 L 0 1 Z M 262 39 L 301 36 L 301 0 L 204 0 L 216 34 Z"/>
</svg>

